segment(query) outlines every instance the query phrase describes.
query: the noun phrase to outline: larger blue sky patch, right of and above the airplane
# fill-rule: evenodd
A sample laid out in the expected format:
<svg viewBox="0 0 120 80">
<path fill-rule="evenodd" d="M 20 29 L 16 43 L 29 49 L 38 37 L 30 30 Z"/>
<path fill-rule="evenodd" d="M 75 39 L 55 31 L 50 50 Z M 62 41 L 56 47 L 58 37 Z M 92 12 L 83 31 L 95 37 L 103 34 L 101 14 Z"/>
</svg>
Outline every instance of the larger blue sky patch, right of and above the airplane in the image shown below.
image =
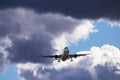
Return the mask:
<svg viewBox="0 0 120 80">
<path fill-rule="evenodd" d="M 106 22 L 100 21 L 94 23 L 98 32 L 90 34 L 87 40 L 80 40 L 77 45 L 70 44 L 71 53 L 81 50 L 89 50 L 92 46 L 101 47 L 104 44 L 110 44 L 116 47 L 120 47 L 120 27 L 113 26 Z"/>
</svg>

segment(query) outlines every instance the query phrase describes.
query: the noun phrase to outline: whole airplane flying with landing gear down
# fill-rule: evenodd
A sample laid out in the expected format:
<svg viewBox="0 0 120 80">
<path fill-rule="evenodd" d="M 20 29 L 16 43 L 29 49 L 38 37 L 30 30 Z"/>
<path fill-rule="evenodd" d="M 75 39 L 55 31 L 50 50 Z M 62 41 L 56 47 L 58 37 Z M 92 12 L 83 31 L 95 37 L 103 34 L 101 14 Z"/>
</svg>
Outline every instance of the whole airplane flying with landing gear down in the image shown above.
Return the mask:
<svg viewBox="0 0 120 80">
<path fill-rule="evenodd" d="M 68 47 L 65 47 L 62 55 L 49 55 L 49 56 L 43 56 L 43 57 L 55 58 L 55 59 L 58 59 L 58 62 L 60 62 L 60 60 L 66 61 L 68 59 L 71 59 L 70 61 L 72 62 L 73 61 L 72 58 L 77 58 L 78 56 L 86 56 L 86 55 L 88 55 L 88 54 L 69 54 Z"/>
</svg>

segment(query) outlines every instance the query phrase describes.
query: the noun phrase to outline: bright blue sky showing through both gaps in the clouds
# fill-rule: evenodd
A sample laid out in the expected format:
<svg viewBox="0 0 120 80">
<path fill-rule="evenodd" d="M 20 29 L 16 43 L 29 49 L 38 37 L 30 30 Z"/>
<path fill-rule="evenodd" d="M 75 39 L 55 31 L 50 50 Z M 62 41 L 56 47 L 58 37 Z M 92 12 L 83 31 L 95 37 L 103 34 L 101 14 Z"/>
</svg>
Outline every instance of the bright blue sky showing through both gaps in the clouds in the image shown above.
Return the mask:
<svg viewBox="0 0 120 80">
<path fill-rule="evenodd" d="M 90 34 L 87 40 L 80 40 L 76 44 L 70 44 L 71 53 L 89 50 L 92 46 L 101 47 L 110 44 L 120 48 L 120 27 L 111 27 L 105 20 L 94 23 L 98 32 Z M 20 80 L 18 78 L 17 67 L 13 64 L 6 66 L 4 72 L 0 72 L 0 80 Z"/>
</svg>

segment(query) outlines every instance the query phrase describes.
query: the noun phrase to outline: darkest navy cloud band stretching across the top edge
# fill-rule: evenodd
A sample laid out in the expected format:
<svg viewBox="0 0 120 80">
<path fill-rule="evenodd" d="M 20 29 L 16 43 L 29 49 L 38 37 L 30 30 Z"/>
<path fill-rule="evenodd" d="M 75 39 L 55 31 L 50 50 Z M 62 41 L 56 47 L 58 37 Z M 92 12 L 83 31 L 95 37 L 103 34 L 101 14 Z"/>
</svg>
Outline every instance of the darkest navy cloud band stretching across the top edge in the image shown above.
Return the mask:
<svg viewBox="0 0 120 80">
<path fill-rule="evenodd" d="M 118 0 L 2 0 L 1 9 L 30 8 L 37 12 L 57 12 L 77 18 L 120 19 Z"/>
</svg>

